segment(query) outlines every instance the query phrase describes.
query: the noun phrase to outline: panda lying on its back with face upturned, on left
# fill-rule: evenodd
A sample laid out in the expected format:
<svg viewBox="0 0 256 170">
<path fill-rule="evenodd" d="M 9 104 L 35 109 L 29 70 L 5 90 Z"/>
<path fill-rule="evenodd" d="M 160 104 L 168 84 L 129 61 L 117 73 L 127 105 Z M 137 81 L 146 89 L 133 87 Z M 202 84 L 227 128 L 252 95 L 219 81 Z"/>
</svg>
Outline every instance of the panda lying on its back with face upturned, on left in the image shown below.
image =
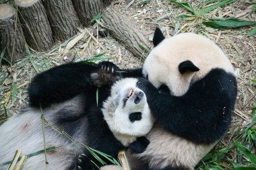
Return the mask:
<svg viewBox="0 0 256 170">
<path fill-rule="evenodd" d="M 79 81 L 79 85 L 83 85 L 71 87 L 75 94 L 71 89 L 68 93 L 74 96 L 63 100 L 59 97 L 65 99 L 67 94 L 56 93 L 64 90 L 61 89 L 62 83 L 68 84 L 63 81 L 61 74 L 65 73 L 67 77 L 73 75 L 73 79 L 82 78 L 72 73 L 75 68 L 84 71 L 84 79 Z M 150 114 L 146 95 L 136 85 L 138 80 L 122 79 L 110 87 L 117 75 L 108 75 L 97 69 L 95 66 L 72 63 L 37 75 L 29 87 L 29 94 L 34 101 L 30 99 L 28 108 L 0 126 L 0 163 L 11 161 L 18 149 L 22 150 L 22 155 L 43 150 L 43 134 L 46 148 L 57 148 L 47 152 L 47 164 L 44 154 L 35 155 L 27 159 L 24 169 L 81 169 L 77 166 L 80 165 L 77 155 L 81 153 L 86 153 L 88 160 L 100 166 L 79 142 L 115 158 L 127 146 L 131 146 L 135 152 L 142 152 L 148 140 L 139 136 L 145 136 L 150 131 L 154 118 Z M 42 98 L 36 99 L 36 95 Z M 47 95 L 53 101 L 44 98 Z M 42 111 L 38 108 L 40 103 Z M 42 114 L 46 122 L 44 132 Z M 64 131 L 68 136 L 61 134 Z M 95 169 L 90 161 L 83 168 Z M 0 165 L 0 169 L 7 169 L 7 165 Z"/>
</svg>

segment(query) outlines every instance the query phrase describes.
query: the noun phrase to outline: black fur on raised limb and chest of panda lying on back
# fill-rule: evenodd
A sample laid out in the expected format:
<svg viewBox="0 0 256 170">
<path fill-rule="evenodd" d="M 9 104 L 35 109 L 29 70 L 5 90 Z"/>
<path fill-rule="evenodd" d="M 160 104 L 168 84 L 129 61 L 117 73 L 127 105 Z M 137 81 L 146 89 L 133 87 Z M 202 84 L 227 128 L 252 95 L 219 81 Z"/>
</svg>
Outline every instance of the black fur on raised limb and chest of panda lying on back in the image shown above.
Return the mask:
<svg viewBox="0 0 256 170">
<path fill-rule="evenodd" d="M 95 81 L 97 80 L 92 80 L 90 77 L 92 73 L 103 74 L 103 76 L 99 75 L 98 79 L 109 79 L 110 83 L 106 80 L 102 80 L 99 82 L 105 83 L 101 83 L 101 87 L 96 86 Z M 126 147 L 123 146 L 110 131 L 101 111 L 103 101 L 110 95 L 110 85 L 115 81 L 115 79 L 111 77 L 111 75 L 115 73 L 109 74 L 110 75 L 104 73 L 104 71 L 102 72 L 102 65 L 70 63 L 54 67 L 49 71 L 36 75 L 32 80 L 28 88 L 30 106 L 47 108 L 54 103 L 61 103 L 80 95 L 83 102 L 79 103 L 79 105 L 83 106 L 82 110 L 74 113 L 71 112 L 74 108 L 61 108 L 61 110 L 55 114 L 55 116 L 57 116 L 56 125 L 61 130 L 65 130 L 70 136 L 73 136 L 80 127 L 86 127 L 81 134 L 82 136 L 87 136 L 85 137 L 86 141 L 82 142 L 86 142 L 88 146 L 117 158 L 118 152 L 126 149 Z M 96 101 L 97 90 L 98 105 Z M 88 124 L 84 124 L 86 121 L 88 121 Z M 140 141 L 137 143 L 139 142 Z M 134 152 L 144 151 L 143 148 L 146 149 L 148 144 L 141 142 L 138 146 L 139 148 L 133 146 L 135 149 Z M 84 153 L 86 153 L 89 160 L 93 160 L 94 163 L 101 166 L 86 149 Z M 106 163 L 110 163 L 107 159 L 103 160 Z M 93 167 L 94 165 L 85 166 Z"/>
</svg>

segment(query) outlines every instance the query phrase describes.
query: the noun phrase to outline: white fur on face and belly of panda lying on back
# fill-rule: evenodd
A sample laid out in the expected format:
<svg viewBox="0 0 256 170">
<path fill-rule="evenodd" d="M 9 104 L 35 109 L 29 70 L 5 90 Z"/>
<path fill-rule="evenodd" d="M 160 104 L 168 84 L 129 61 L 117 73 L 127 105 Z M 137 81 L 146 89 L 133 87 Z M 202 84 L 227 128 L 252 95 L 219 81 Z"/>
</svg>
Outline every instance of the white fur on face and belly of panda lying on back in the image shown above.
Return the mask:
<svg viewBox="0 0 256 170">
<path fill-rule="evenodd" d="M 111 96 L 104 102 L 104 109 L 102 109 L 110 130 L 113 130 L 117 139 L 125 145 L 133 142 L 137 136 L 146 135 L 154 123 L 146 102 L 146 95 L 137 105 L 134 101 L 127 101 L 125 108 L 121 107 L 125 89 L 133 88 L 135 91 L 141 91 L 135 87 L 136 83 L 137 79 L 124 79 L 117 82 L 113 86 Z M 120 105 L 115 105 L 117 95 L 121 96 L 119 98 Z M 65 116 L 83 113 L 83 105 L 81 104 L 83 102 L 82 96 L 78 95 L 69 101 L 53 105 L 51 108 L 43 110 L 44 118 L 47 122 L 55 125 L 60 116 L 65 118 Z M 66 112 L 62 112 L 62 110 Z M 142 112 L 141 120 L 131 123 L 129 111 Z M 82 132 L 87 128 L 88 120 L 84 119 L 83 121 L 83 125 L 77 129 L 73 138 L 84 141 L 84 144 L 86 144 L 86 136 Z M 46 153 L 49 164 L 46 165 L 44 154 L 40 154 L 28 158 L 24 169 L 67 169 L 75 161 L 75 155 L 82 153 L 79 148 L 83 148 L 83 146 L 80 146 L 77 142 L 71 142 L 49 124 L 45 123 L 44 125 L 46 148 L 51 146 L 60 147 Z M 27 108 L 9 118 L 7 122 L 0 126 L 0 139 L 0 164 L 11 161 L 16 150 L 22 150 L 22 155 L 43 150 L 44 141 L 40 110 Z M 0 167 L 0 170 L 3 169 L 7 169 L 7 166 Z"/>
</svg>

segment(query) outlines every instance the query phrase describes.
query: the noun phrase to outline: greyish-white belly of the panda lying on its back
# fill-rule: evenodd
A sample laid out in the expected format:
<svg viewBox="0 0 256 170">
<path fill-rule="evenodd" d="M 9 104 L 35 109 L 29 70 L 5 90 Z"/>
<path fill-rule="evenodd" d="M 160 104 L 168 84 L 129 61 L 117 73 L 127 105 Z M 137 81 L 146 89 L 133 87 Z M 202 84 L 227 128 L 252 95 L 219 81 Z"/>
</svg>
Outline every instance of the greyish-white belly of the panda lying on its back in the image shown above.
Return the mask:
<svg viewBox="0 0 256 170">
<path fill-rule="evenodd" d="M 70 114 L 75 112 L 75 110 L 70 110 L 70 104 L 68 106 L 67 103 L 45 110 L 43 112 L 45 120 L 51 124 L 55 124 L 55 127 L 57 127 L 59 116 L 56 114 L 62 112 L 62 106 L 69 108 Z M 46 148 L 53 146 L 57 148 L 47 152 L 46 157 L 49 164 L 46 165 L 45 155 L 41 153 L 28 158 L 24 164 L 24 169 L 75 169 L 76 155 L 81 154 L 82 150 L 77 148 L 77 145 L 75 146 L 71 140 L 54 130 L 46 122 L 44 122 L 44 125 Z M 60 130 L 65 130 L 65 128 L 61 128 Z M 77 130 L 77 133 L 72 134 L 72 137 L 76 138 L 80 136 L 82 130 L 86 130 L 86 126 L 82 127 L 81 130 Z M 40 110 L 27 108 L 23 112 L 9 118 L 7 122 L 0 126 L 0 138 L 0 164 L 11 161 L 16 150 L 21 150 L 22 155 L 44 150 Z M 85 142 L 85 139 L 82 137 L 77 137 L 76 139 Z M 0 170 L 2 169 L 7 169 L 7 165 L 0 167 Z"/>
</svg>

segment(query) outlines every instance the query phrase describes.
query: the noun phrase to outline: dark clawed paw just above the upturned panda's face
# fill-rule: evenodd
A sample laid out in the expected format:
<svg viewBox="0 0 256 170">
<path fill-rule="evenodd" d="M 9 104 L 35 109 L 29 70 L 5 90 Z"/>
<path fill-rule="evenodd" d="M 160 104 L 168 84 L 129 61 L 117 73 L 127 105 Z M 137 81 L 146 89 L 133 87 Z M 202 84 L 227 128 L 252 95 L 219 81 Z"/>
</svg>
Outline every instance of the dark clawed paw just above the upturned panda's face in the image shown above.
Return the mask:
<svg viewBox="0 0 256 170">
<path fill-rule="evenodd" d="M 90 79 L 96 87 L 102 87 L 104 85 L 112 85 L 117 80 L 121 79 L 120 69 L 112 62 L 100 62 L 98 64 L 98 70 L 91 73 Z"/>
</svg>

